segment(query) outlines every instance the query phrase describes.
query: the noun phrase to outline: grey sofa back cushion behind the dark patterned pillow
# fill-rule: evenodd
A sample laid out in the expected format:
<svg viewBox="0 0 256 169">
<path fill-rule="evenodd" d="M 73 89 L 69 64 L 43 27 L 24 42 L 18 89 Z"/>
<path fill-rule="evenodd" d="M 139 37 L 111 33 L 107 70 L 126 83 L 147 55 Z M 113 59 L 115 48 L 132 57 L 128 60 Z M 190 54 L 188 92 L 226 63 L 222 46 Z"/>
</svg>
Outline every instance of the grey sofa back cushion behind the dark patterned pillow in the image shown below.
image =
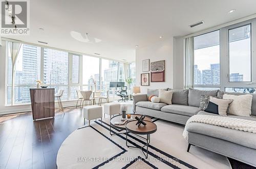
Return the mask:
<svg viewBox="0 0 256 169">
<path fill-rule="evenodd" d="M 200 106 L 201 95 L 217 96 L 219 90 L 197 90 L 188 89 L 188 106 Z"/>
</svg>

